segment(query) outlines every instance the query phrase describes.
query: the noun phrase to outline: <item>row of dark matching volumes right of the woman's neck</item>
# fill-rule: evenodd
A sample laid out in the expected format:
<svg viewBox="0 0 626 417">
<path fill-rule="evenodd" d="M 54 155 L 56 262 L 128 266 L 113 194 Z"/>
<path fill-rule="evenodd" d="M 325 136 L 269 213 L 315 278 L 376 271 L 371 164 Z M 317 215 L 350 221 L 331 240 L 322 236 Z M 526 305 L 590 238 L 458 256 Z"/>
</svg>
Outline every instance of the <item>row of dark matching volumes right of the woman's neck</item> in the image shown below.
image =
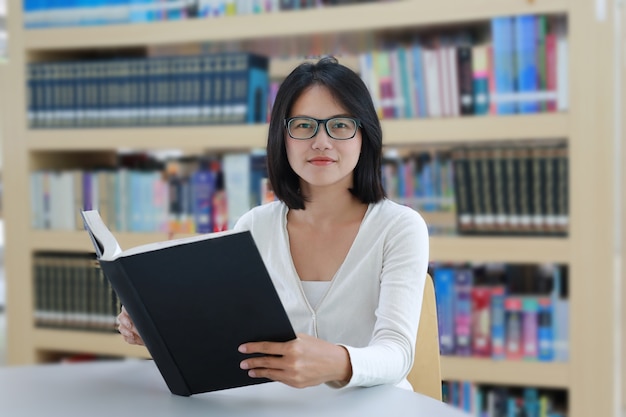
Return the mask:
<svg viewBox="0 0 626 417">
<path fill-rule="evenodd" d="M 565 144 L 462 146 L 452 160 L 459 234 L 567 234 Z"/>
</svg>

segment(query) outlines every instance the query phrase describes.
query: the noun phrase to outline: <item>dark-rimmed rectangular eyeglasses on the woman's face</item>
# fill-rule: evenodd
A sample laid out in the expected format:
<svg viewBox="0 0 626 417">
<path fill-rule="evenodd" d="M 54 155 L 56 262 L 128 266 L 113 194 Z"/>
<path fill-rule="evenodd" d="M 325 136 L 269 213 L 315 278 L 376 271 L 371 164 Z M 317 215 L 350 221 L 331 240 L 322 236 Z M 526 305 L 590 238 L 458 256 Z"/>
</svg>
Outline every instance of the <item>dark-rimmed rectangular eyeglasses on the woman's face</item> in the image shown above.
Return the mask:
<svg viewBox="0 0 626 417">
<path fill-rule="evenodd" d="M 336 140 L 352 139 L 356 135 L 356 130 L 361 127 L 361 121 L 353 117 L 331 117 L 330 119 L 290 117 L 285 119 L 289 136 L 299 140 L 315 137 L 320 124 L 325 126 L 328 136 Z"/>
</svg>

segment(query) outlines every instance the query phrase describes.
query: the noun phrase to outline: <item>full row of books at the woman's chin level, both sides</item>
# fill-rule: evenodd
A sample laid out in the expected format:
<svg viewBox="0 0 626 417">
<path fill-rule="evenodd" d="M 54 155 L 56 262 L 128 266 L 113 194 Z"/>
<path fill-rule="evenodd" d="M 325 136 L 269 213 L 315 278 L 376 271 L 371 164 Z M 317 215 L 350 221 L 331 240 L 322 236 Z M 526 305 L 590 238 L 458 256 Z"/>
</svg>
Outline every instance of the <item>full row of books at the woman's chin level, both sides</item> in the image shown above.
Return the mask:
<svg viewBox="0 0 626 417">
<path fill-rule="evenodd" d="M 199 203 L 193 203 L 189 190 L 191 181 L 199 178 L 202 161 L 217 192 L 211 194 L 212 204 L 204 204 L 214 218 L 200 227 L 193 212 Z M 73 230 L 82 224 L 74 207 L 97 207 L 112 230 L 221 230 L 250 204 L 274 199 L 263 151 L 216 155 L 210 162 L 198 156 L 143 161 L 139 166 L 121 163 L 118 168 L 32 172 L 33 227 Z M 566 145 L 518 143 L 408 153 L 389 149 L 381 172 L 390 199 L 424 214 L 447 213 L 448 234 L 565 235 L 567 170 Z M 233 178 L 248 178 L 244 189 L 252 190 L 252 197 L 247 204 L 235 200 Z"/>
</svg>

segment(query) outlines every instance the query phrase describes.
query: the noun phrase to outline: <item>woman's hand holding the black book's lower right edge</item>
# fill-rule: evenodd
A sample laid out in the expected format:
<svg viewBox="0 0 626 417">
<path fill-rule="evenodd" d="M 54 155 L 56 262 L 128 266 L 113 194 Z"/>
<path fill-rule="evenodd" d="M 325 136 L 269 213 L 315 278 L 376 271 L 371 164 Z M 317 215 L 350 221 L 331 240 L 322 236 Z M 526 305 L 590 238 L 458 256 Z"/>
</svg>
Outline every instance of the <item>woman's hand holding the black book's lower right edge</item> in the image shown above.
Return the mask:
<svg viewBox="0 0 626 417">
<path fill-rule="evenodd" d="M 254 378 L 268 378 L 295 388 L 336 381 L 347 383 L 352 377 L 348 351 L 338 345 L 307 334 L 289 342 L 251 342 L 239 347 L 242 353 L 266 356 L 248 358 L 241 369 Z"/>
</svg>

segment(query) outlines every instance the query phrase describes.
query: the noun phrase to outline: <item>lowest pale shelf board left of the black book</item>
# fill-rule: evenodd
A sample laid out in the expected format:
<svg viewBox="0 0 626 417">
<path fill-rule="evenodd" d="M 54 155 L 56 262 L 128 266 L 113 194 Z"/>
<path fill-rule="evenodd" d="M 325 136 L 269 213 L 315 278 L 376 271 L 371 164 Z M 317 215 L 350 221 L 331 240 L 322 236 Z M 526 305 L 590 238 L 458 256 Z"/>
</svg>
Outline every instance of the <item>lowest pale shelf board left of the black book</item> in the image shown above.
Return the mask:
<svg viewBox="0 0 626 417">
<path fill-rule="evenodd" d="M 34 347 L 39 351 L 150 358 L 145 347 L 129 345 L 118 333 L 56 329 L 35 329 L 33 333 Z"/>
</svg>

